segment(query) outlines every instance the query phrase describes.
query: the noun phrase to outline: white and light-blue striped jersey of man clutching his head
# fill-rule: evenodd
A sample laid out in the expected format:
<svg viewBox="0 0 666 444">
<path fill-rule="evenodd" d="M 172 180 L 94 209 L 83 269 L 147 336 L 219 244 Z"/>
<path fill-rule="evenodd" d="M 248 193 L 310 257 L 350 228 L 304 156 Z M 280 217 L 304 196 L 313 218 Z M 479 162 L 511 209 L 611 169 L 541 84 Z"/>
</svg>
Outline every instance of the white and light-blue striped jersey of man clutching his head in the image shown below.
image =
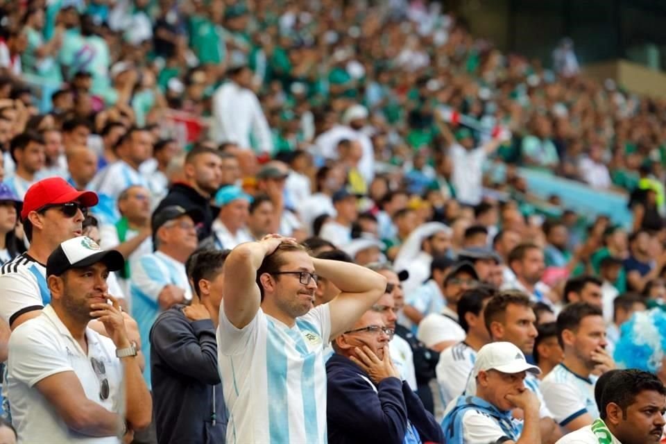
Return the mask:
<svg viewBox="0 0 666 444">
<path fill-rule="evenodd" d="M 217 349 L 229 443 L 326 442 L 327 304 L 288 327 L 259 308 L 238 329 L 220 307 Z"/>
</svg>

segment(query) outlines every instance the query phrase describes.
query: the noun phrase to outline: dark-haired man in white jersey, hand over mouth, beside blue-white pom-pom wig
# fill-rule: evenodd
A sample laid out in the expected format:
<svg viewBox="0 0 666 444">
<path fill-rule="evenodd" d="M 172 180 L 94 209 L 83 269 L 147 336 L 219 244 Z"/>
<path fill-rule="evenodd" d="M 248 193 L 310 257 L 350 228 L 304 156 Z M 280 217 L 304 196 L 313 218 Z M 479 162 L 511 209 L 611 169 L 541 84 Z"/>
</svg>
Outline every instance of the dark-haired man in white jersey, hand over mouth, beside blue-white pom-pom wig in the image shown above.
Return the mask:
<svg viewBox="0 0 666 444">
<path fill-rule="evenodd" d="M 564 307 L 557 316 L 557 332 L 564 359 L 543 379 L 541 393 L 558 424 L 573 432 L 599 418 L 592 370 L 604 373 L 615 363 L 605 350 L 606 323 L 596 305 L 576 302 Z"/>
</svg>

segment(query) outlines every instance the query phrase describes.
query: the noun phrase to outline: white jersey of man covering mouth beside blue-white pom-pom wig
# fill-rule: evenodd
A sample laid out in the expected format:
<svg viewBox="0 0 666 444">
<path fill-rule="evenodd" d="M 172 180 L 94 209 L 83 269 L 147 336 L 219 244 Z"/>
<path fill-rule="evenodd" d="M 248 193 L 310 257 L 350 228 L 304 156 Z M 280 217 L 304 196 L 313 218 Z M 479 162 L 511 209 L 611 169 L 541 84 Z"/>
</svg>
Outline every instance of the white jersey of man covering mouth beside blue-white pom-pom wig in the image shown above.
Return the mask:
<svg viewBox="0 0 666 444">
<path fill-rule="evenodd" d="M 590 413 L 593 420 L 599 418 L 595 402 L 596 383 L 597 377 L 584 378 L 558 364 L 546 375 L 540 388 L 554 420 L 564 427 L 585 413 Z"/>
</svg>

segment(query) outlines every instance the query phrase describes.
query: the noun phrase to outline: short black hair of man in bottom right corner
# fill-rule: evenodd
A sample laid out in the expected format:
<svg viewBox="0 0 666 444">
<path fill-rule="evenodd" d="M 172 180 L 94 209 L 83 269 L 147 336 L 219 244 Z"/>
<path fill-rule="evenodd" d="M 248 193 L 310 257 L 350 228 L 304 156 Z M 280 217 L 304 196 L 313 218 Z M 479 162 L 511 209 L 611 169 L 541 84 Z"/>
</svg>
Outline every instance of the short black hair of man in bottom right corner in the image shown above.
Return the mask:
<svg viewBox="0 0 666 444">
<path fill-rule="evenodd" d="M 610 375 L 601 392 L 599 416 L 602 420 L 606 419 L 606 407 L 613 402 L 622 409 L 622 418 L 626 419 L 626 409 L 635 402 L 636 396 L 642 391 L 656 391 L 660 395 L 666 395 L 663 382 L 652 373 L 631 368 Z"/>
</svg>

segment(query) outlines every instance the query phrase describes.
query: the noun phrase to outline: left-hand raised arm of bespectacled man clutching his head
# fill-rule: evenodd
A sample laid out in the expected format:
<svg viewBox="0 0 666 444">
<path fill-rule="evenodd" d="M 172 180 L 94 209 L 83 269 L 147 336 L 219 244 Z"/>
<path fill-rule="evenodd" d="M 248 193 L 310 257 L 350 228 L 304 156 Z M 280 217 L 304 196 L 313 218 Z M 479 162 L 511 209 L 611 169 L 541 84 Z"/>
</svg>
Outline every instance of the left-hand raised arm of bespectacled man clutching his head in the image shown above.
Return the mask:
<svg viewBox="0 0 666 444">
<path fill-rule="evenodd" d="M 258 242 L 240 244 L 229 253 L 224 263 L 224 314 L 236 328 L 243 328 L 253 320 L 259 305 L 261 293 L 257 287 L 257 270 L 264 257 L 290 239 L 271 234 Z"/>
</svg>

